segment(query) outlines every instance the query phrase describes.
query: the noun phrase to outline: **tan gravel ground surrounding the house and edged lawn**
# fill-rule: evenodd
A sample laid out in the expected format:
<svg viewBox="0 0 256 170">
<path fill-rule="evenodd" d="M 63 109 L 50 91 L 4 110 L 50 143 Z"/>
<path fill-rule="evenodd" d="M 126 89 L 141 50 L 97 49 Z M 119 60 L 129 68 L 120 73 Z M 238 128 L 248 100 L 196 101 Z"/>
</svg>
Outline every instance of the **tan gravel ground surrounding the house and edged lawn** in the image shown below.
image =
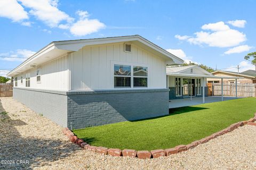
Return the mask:
<svg viewBox="0 0 256 170">
<path fill-rule="evenodd" d="M 245 125 L 194 149 L 141 160 L 82 150 L 62 128 L 12 98 L 0 98 L 0 169 L 256 169 L 256 126 Z M 17 164 L 28 160 L 29 164 Z"/>
</svg>

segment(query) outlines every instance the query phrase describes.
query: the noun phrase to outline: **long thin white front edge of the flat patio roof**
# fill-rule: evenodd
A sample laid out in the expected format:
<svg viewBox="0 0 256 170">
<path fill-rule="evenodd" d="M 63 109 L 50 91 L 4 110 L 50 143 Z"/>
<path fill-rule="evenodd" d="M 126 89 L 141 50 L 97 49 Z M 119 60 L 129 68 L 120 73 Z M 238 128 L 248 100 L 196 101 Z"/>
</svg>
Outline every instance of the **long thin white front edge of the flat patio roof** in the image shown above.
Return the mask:
<svg viewBox="0 0 256 170">
<path fill-rule="evenodd" d="M 223 77 L 223 76 L 215 76 L 215 75 L 183 74 L 183 73 L 170 73 L 170 72 L 167 72 L 166 75 L 172 75 L 177 77 L 187 77 L 187 78 L 244 79 L 243 77 Z"/>
</svg>

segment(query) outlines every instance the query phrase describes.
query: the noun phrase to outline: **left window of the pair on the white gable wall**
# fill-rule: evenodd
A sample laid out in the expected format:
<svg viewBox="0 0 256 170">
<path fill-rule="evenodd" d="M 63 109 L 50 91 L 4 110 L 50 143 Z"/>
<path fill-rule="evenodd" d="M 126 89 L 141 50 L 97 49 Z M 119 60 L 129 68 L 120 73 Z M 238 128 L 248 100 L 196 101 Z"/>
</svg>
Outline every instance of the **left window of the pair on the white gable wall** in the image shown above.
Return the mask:
<svg viewBox="0 0 256 170">
<path fill-rule="evenodd" d="M 114 65 L 115 88 L 131 87 L 131 66 Z"/>
</svg>

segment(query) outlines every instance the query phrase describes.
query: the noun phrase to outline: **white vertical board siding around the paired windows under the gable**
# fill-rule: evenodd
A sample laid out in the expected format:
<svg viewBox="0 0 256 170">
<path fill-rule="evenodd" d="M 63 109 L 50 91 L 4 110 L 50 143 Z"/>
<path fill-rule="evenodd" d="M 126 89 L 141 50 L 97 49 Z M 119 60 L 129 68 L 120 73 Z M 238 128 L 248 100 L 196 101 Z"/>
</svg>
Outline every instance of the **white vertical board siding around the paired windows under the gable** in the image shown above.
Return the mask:
<svg viewBox="0 0 256 170">
<path fill-rule="evenodd" d="M 70 90 L 114 89 L 114 64 L 147 66 L 148 88 L 166 88 L 165 61 L 135 45 L 131 53 L 124 43 L 88 46 L 69 57 Z"/>
</svg>

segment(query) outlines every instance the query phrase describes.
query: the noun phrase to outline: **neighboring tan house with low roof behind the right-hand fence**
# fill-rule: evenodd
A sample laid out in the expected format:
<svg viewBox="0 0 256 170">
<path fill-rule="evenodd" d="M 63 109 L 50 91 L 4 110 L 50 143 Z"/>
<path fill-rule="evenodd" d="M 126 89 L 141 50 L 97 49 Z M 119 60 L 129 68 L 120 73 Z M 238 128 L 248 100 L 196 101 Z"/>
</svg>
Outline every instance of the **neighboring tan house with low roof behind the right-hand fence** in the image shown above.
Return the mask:
<svg viewBox="0 0 256 170">
<path fill-rule="evenodd" d="M 225 76 L 225 77 L 243 77 L 243 79 L 237 79 L 237 83 L 256 83 L 256 71 L 255 70 L 247 70 L 241 73 L 231 72 L 231 71 L 222 71 L 217 70 L 212 72 L 213 75 L 216 76 Z M 220 83 L 221 79 L 207 79 L 209 83 Z M 223 83 L 235 83 L 235 79 L 223 79 Z"/>
</svg>

